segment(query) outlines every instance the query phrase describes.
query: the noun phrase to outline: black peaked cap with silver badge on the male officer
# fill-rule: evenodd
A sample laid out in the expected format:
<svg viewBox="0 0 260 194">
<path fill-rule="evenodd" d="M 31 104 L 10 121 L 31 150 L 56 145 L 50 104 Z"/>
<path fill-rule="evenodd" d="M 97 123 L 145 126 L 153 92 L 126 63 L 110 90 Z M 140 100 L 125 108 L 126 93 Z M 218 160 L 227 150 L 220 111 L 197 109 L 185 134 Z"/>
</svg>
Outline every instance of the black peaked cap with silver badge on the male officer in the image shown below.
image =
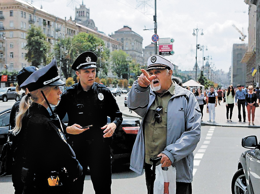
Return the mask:
<svg viewBox="0 0 260 194">
<path fill-rule="evenodd" d="M 97 56 L 91 51 L 81 53 L 72 64 L 71 68 L 75 71 L 96 67 Z"/>
</svg>

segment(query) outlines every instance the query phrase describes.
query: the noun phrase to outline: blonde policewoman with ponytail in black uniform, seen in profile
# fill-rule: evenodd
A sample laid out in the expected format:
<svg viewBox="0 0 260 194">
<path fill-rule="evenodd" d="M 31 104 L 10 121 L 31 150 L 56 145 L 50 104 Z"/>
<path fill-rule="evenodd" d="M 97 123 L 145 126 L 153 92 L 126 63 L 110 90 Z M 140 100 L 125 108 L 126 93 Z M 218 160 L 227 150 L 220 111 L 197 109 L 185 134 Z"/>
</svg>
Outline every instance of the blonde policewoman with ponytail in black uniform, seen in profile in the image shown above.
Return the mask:
<svg viewBox="0 0 260 194">
<path fill-rule="evenodd" d="M 69 193 L 72 182 L 82 174 L 82 167 L 63 134 L 66 126 L 52 120 L 47 110 L 47 101 L 58 103 L 62 93 L 59 86 L 64 84 L 55 59 L 21 84 L 29 94 L 21 100 L 12 132 L 18 141 L 14 158 L 23 166 L 20 173 L 23 194 Z M 73 127 L 81 128 L 77 124 L 67 128 Z"/>
</svg>

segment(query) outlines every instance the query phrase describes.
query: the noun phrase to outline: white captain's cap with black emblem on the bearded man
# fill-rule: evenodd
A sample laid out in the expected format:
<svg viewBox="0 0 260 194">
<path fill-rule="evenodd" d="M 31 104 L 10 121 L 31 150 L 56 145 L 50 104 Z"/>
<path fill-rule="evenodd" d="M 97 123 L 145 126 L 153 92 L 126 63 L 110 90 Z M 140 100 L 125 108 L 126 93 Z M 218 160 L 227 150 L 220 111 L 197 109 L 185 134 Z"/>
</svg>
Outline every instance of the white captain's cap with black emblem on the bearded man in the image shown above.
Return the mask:
<svg viewBox="0 0 260 194">
<path fill-rule="evenodd" d="M 170 62 L 168 59 L 166 59 L 163 56 L 153 55 L 149 57 L 147 60 L 146 71 L 149 69 L 169 69 L 173 71 L 174 64 L 172 64 L 172 62 Z"/>
</svg>

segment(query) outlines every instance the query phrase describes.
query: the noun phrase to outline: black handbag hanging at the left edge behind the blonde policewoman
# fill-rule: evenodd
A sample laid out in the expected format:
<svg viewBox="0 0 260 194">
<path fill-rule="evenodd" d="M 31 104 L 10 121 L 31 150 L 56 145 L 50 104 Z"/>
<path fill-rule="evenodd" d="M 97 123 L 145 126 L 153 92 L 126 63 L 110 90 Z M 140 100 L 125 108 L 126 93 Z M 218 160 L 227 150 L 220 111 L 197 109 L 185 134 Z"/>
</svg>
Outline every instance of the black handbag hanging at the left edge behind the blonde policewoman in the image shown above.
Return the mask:
<svg viewBox="0 0 260 194">
<path fill-rule="evenodd" d="M 8 130 L 7 142 L 3 145 L 0 155 L 0 176 L 12 175 L 12 141 L 10 142 L 10 124 Z"/>
</svg>

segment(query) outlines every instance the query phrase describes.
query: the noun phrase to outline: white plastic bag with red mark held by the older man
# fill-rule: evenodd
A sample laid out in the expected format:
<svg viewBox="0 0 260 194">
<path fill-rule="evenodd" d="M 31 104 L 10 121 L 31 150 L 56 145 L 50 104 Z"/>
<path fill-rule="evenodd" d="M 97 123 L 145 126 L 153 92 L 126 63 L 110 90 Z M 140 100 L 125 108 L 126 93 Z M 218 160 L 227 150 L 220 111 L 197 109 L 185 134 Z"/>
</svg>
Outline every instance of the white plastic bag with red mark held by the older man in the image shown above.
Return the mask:
<svg viewBox="0 0 260 194">
<path fill-rule="evenodd" d="M 162 170 L 161 164 L 155 168 L 155 182 L 153 194 L 175 194 L 176 193 L 176 168 L 168 167 Z"/>
</svg>

